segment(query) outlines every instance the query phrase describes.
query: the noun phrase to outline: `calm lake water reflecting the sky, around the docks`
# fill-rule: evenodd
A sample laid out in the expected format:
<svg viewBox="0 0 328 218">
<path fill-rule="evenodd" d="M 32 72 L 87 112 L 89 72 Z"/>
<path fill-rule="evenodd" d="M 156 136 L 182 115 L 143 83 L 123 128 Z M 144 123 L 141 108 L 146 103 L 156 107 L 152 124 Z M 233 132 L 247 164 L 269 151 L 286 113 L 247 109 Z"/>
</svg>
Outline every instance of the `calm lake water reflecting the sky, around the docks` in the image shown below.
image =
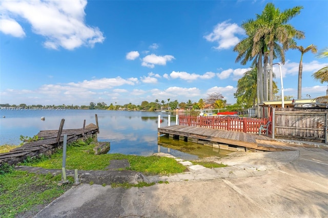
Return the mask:
<svg viewBox="0 0 328 218">
<path fill-rule="evenodd" d="M 98 117 L 98 141 L 109 141 L 109 153 L 149 156 L 154 152 L 166 152 L 185 160 L 195 160 L 199 156 L 221 156 L 211 147 L 172 140 L 158 139 L 158 115 L 163 120 L 161 126 L 168 125 L 168 114 L 139 111 L 105 110 L 0 110 L 0 145 L 19 144 L 20 135 L 33 137 L 40 130 L 58 129 L 61 119 L 65 119 L 64 129 L 82 128 L 95 122 Z M 5 116 L 5 118 L 4 118 Z M 45 120 L 41 120 L 45 117 Z M 171 125 L 175 125 L 175 115 L 171 115 Z M 190 146 L 181 152 L 170 147 Z"/>
</svg>

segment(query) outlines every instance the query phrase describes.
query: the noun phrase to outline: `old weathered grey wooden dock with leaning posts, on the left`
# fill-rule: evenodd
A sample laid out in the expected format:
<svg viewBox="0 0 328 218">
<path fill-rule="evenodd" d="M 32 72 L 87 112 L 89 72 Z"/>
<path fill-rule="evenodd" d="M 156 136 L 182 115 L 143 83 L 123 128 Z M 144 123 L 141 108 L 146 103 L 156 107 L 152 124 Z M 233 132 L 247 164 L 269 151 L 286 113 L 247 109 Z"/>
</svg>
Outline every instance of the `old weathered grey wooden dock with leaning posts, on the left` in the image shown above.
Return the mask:
<svg viewBox="0 0 328 218">
<path fill-rule="evenodd" d="M 63 119 L 64 120 L 64 119 Z M 77 139 L 85 139 L 99 133 L 95 124 L 89 124 L 78 129 L 63 129 L 64 122 L 60 124 L 59 130 L 43 130 L 37 134 L 39 140 L 26 143 L 6 153 L 0 153 L 0 166 L 3 163 L 14 165 L 24 161 L 27 157 L 33 158 L 40 154 L 50 155 L 56 148 L 63 146 L 64 135 L 67 135 L 67 143 Z"/>
</svg>

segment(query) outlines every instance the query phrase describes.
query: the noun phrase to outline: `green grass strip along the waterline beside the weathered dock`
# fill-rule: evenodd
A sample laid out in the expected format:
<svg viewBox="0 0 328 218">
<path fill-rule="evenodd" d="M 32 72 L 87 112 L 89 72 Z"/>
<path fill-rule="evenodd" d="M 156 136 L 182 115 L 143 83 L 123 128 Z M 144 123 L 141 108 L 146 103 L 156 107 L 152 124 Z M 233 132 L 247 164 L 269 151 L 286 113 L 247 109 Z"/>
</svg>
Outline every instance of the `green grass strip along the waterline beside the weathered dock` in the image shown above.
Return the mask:
<svg viewBox="0 0 328 218">
<path fill-rule="evenodd" d="M 172 158 L 158 156 L 135 156 L 122 154 L 94 155 L 94 144 L 70 145 L 66 151 L 66 169 L 78 170 L 105 170 L 110 160 L 127 159 L 130 167 L 127 170 L 134 170 L 145 175 L 170 175 L 186 171 L 186 167 L 177 163 Z M 51 158 L 42 157 L 43 160 L 29 160 L 23 165 L 42 167 L 46 169 L 61 169 L 63 162 L 63 152 L 58 151 Z"/>
</svg>

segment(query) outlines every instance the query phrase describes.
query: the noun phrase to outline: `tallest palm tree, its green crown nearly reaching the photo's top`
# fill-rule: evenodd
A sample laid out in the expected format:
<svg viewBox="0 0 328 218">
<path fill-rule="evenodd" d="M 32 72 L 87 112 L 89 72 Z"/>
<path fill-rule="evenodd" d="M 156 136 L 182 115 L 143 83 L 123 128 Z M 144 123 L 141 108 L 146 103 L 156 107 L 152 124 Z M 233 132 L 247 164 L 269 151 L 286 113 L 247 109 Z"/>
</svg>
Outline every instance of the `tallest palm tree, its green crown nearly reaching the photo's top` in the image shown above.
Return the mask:
<svg viewBox="0 0 328 218">
<path fill-rule="evenodd" d="M 257 31 L 254 41 L 260 40 L 264 36 L 265 43 L 269 47 L 269 65 L 272 66 L 273 59 L 277 54 L 274 51 L 280 51 L 280 60 L 284 64 L 284 51 L 291 46 L 296 45 L 295 39 L 304 38 L 302 31 L 296 30 L 288 21 L 300 14 L 303 7 L 296 6 L 280 12 L 279 8 L 275 8 L 274 4 L 268 3 L 262 14 L 257 15 L 257 19 L 263 21 L 263 25 Z M 280 44 L 279 44 L 280 43 Z M 280 47 L 280 48 L 278 48 Z M 269 99 L 273 99 L 273 71 L 269 71 Z"/>
</svg>

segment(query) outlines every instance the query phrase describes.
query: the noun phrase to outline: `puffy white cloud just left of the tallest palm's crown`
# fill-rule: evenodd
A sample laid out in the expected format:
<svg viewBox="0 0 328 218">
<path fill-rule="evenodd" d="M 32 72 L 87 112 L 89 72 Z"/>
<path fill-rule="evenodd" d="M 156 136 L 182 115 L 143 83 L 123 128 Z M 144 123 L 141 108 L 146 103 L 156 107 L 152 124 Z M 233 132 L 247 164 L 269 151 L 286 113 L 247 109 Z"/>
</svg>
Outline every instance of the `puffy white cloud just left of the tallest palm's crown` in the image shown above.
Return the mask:
<svg viewBox="0 0 328 218">
<path fill-rule="evenodd" d="M 236 34 L 243 35 L 244 30 L 237 24 L 228 23 L 228 21 L 223 21 L 217 24 L 212 33 L 203 36 L 206 40 L 211 42 L 217 42 L 218 46 L 215 49 L 229 49 L 240 41 L 240 39 L 235 36 Z"/>
</svg>

